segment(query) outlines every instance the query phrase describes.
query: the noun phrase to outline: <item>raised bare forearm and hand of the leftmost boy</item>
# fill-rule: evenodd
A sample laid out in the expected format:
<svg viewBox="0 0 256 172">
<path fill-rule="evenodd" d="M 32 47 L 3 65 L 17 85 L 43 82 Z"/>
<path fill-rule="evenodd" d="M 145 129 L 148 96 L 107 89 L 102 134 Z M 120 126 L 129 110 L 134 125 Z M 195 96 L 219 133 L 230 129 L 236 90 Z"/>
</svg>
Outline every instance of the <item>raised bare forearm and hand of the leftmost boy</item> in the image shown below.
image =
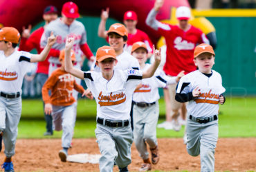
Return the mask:
<svg viewBox="0 0 256 172">
<path fill-rule="evenodd" d="M 47 44 L 46 44 L 46 47 L 44 47 L 44 50 L 40 54 L 32 54 L 30 58 L 30 62 L 34 63 L 34 62 L 44 61 L 48 56 L 51 50 L 51 47 L 53 46 L 55 41 L 56 41 L 56 37 L 53 35 L 53 32 L 51 32 L 51 36 L 48 37 Z"/>
</svg>

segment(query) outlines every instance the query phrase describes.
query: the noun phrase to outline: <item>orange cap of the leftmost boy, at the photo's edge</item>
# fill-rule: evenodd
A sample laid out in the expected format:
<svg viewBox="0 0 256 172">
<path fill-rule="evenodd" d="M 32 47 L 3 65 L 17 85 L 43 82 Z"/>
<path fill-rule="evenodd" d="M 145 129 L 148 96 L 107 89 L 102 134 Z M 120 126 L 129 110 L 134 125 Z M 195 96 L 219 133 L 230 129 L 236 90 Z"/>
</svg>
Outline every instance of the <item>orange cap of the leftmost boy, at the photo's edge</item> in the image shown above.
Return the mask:
<svg viewBox="0 0 256 172">
<path fill-rule="evenodd" d="M 0 41 L 10 41 L 11 43 L 19 43 L 21 35 L 19 31 L 12 27 L 3 27 L 0 30 Z"/>
</svg>

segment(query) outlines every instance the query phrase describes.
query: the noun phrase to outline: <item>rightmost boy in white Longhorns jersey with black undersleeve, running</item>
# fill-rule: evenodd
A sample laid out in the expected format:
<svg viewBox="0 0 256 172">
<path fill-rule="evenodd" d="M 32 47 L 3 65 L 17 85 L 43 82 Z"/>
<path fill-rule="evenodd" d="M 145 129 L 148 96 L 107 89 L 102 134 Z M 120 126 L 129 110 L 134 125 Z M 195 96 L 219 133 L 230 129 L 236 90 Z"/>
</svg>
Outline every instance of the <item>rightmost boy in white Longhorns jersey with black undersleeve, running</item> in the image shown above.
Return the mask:
<svg viewBox="0 0 256 172">
<path fill-rule="evenodd" d="M 188 102 L 187 151 L 201 156 L 201 171 L 214 171 L 219 103 L 225 103 L 221 75 L 212 70 L 214 56 L 211 45 L 196 46 L 194 63 L 199 69 L 181 78 L 175 96 L 181 103 Z"/>
</svg>

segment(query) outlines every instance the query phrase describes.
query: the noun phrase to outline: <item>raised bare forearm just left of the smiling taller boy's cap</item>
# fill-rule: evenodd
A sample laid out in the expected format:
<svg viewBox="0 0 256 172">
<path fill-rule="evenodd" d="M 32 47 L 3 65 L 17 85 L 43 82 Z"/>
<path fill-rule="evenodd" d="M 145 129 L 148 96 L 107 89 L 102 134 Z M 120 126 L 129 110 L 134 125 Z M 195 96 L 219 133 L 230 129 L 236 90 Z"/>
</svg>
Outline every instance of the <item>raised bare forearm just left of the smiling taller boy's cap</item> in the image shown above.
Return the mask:
<svg viewBox="0 0 256 172">
<path fill-rule="evenodd" d="M 109 8 L 107 8 L 106 10 L 102 10 L 100 18 L 101 19 L 100 19 L 100 24 L 98 28 L 98 36 L 106 39 L 107 38 L 106 22 L 107 22 L 107 19 L 109 18 Z"/>
</svg>

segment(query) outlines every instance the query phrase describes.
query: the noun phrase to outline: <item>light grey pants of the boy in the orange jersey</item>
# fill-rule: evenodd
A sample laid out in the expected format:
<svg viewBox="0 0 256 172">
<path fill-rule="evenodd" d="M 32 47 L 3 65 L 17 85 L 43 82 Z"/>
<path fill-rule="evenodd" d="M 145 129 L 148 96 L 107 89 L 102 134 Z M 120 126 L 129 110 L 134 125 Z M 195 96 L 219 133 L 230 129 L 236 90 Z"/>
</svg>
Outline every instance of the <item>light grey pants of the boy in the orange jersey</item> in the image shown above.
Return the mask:
<svg viewBox="0 0 256 172">
<path fill-rule="evenodd" d="M 75 104 L 75 103 L 74 103 Z M 73 131 L 75 127 L 75 105 L 54 106 L 53 105 L 53 129 L 56 131 L 63 130 L 62 147 L 71 147 Z"/>
</svg>

